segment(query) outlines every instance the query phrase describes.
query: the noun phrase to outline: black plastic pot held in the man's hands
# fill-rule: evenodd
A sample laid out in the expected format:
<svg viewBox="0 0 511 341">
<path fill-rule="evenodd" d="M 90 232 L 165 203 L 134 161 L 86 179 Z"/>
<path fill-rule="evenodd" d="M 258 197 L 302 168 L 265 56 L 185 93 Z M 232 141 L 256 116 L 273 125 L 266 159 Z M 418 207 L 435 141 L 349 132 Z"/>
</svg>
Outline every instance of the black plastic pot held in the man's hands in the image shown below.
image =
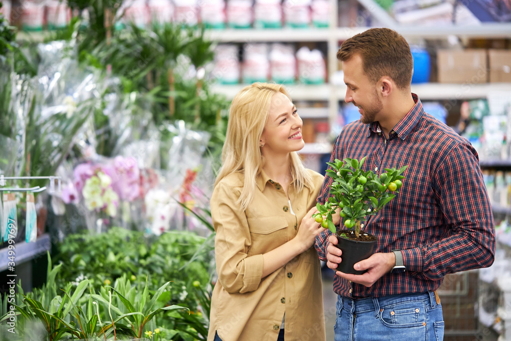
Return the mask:
<svg viewBox="0 0 511 341">
<path fill-rule="evenodd" d="M 337 247 L 341 249 L 341 263 L 337 266 L 337 271 L 344 272 L 344 274 L 362 275 L 366 270 L 359 271 L 353 268 L 355 263 L 369 258 L 373 254 L 373 249 L 376 244 L 376 237 L 373 241 L 357 241 L 349 238 L 344 238 L 339 235 L 337 237 Z"/>
</svg>

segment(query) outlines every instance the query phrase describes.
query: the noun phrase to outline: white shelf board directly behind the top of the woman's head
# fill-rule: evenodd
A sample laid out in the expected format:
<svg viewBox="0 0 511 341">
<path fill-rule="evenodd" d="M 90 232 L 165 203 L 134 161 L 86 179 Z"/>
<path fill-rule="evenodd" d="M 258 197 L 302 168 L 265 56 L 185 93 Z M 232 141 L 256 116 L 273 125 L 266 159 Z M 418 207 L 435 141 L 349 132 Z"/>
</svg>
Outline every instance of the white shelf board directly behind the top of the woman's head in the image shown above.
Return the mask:
<svg viewBox="0 0 511 341">
<path fill-rule="evenodd" d="M 224 95 L 231 100 L 247 84 L 236 85 L 213 85 L 215 93 Z M 327 101 L 330 95 L 330 85 L 286 85 L 289 95 L 293 100 L 304 101 Z"/>
</svg>

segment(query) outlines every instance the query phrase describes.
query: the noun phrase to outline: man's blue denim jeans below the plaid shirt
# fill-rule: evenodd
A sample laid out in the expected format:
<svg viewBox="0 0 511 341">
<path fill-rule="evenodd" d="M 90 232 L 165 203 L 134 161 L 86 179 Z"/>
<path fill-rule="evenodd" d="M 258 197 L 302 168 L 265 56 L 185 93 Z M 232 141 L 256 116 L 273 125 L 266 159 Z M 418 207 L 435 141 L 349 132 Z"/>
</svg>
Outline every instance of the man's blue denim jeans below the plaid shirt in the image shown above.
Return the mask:
<svg viewBox="0 0 511 341">
<path fill-rule="evenodd" d="M 335 341 L 443 340 L 444 316 L 432 291 L 352 300 L 337 298 Z"/>
</svg>

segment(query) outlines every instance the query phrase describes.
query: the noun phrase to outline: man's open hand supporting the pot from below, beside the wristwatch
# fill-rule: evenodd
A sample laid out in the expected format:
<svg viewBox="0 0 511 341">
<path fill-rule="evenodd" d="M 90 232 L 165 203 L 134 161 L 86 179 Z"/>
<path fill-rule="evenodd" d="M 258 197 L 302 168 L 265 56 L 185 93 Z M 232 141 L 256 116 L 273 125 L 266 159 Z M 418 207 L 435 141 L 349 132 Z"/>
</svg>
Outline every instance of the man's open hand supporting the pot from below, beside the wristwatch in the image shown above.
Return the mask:
<svg viewBox="0 0 511 341">
<path fill-rule="evenodd" d="M 389 254 L 378 253 L 373 254 L 371 257 L 353 265 L 355 270 L 367 270 L 367 272 L 365 272 L 363 275 L 344 274 L 344 272 L 341 271 L 336 271 L 335 274 L 346 280 L 370 287 L 371 285 L 375 284 L 375 282 L 378 281 L 380 277 L 390 271 L 394 265 L 396 265 L 396 255 L 394 255 L 393 252 Z"/>
</svg>

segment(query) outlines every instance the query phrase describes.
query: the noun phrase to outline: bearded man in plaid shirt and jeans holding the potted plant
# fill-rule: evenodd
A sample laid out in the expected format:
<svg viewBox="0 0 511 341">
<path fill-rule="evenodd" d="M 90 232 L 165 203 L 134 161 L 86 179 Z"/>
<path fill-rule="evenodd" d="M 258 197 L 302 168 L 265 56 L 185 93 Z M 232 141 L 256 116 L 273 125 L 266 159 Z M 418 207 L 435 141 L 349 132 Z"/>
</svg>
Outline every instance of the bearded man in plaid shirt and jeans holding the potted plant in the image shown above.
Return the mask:
<svg viewBox="0 0 511 341">
<path fill-rule="evenodd" d="M 495 223 L 477 152 L 411 93 L 413 59 L 400 34 L 367 30 L 344 41 L 337 58 L 345 101 L 359 108 L 360 121 L 343 128 L 332 160 L 367 156 L 364 171 L 378 174 L 408 168 L 399 195 L 363 226 L 378 238 L 375 254 L 354 265 L 367 272 L 336 272 L 335 340 L 441 340 L 436 289 L 445 275 L 494 261 Z M 318 202 L 327 201 L 331 183 L 326 177 Z M 336 269 L 343 255 L 329 234 L 315 246 Z"/>
</svg>

